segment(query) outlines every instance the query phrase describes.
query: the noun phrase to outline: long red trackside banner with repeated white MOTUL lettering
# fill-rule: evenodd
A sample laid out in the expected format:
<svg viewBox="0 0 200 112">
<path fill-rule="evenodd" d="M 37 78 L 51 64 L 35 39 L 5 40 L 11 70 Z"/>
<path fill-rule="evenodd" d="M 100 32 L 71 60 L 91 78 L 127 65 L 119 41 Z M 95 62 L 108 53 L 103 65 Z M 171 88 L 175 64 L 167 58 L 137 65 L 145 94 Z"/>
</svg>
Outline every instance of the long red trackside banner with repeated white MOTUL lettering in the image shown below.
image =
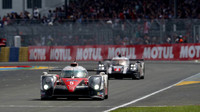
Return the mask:
<svg viewBox="0 0 200 112">
<path fill-rule="evenodd" d="M 196 60 L 200 44 L 29 47 L 29 61 L 99 61 L 119 54 L 130 59 Z"/>
</svg>

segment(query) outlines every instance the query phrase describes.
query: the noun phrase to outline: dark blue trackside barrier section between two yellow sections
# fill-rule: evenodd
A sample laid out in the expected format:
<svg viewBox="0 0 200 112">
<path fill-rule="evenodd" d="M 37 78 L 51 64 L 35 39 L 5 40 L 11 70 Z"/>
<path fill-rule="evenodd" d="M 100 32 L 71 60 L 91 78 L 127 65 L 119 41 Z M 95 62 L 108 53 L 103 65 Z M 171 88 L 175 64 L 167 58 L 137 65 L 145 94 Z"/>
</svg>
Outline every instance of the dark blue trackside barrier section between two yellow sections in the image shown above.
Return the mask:
<svg viewBox="0 0 200 112">
<path fill-rule="evenodd" d="M 11 47 L 10 48 L 9 62 L 18 62 L 18 61 L 19 61 L 19 48 L 18 47 Z"/>
</svg>

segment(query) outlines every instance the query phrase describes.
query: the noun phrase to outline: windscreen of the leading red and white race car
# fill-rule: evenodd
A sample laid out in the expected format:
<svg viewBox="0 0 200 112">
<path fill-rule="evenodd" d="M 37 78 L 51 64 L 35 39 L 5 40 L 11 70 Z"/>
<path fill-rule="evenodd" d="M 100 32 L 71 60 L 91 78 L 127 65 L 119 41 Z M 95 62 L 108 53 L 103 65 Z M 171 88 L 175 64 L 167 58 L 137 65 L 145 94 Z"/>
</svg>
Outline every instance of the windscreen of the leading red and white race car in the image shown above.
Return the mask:
<svg viewBox="0 0 200 112">
<path fill-rule="evenodd" d="M 86 78 L 88 76 L 87 71 L 84 70 L 65 70 L 62 71 L 62 78 Z"/>
</svg>

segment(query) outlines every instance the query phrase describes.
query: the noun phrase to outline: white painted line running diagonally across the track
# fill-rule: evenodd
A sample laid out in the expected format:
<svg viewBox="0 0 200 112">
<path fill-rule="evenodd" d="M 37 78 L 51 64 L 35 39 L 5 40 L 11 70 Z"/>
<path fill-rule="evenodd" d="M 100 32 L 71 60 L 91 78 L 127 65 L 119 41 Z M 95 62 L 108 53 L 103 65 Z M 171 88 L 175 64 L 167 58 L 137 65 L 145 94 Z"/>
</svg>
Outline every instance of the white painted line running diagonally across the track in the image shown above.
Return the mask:
<svg viewBox="0 0 200 112">
<path fill-rule="evenodd" d="M 188 77 L 188 78 L 185 78 L 185 79 L 179 81 L 178 83 L 180 83 L 180 82 L 182 82 L 182 81 L 184 81 L 184 80 L 187 80 L 187 79 L 189 79 L 189 78 L 193 78 L 193 77 L 198 76 L 198 75 L 200 75 L 200 73 L 195 74 L 195 75 L 193 75 L 193 76 L 190 76 L 190 77 Z M 178 83 L 176 83 L 176 84 L 178 84 Z M 153 92 L 153 93 L 148 94 L 148 95 L 146 95 L 146 96 L 143 96 L 143 97 L 141 97 L 141 98 L 132 100 L 132 101 L 130 101 L 130 102 L 128 102 L 128 103 L 125 103 L 125 104 L 122 104 L 122 105 L 113 107 L 113 108 L 111 108 L 111 109 L 109 109 L 109 110 L 105 110 L 104 112 L 110 112 L 110 111 L 116 110 L 116 109 L 118 109 L 118 108 L 125 107 L 125 106 L 127 106 L 127 105 L 136 103 L 136 102 L 138 102 L 138 101 L 140 101 L 140 100 L 143 100 L 143 99 L 145 99 L 145 98 L 148 98 L 148 97 L 150 97 L 150 96 L 153 96 L 153 95 L 155 95 L 155 94 L 158 94 L 158 93 L 160 93 L 160 92 L 162 92 L 162 91 L 165 91 L 165 90 L 167 90 L 167 89 L 169 89 L 169 88 L 175 86 L 176 84 L 173 84 L 173 85 L 171 85 L 171 86 L 168 86 L 168 87 L 166 87 L 166 88 L 163 88 L 163 89 L 161 89 L 161 90 L 158 90 L 158 91 L 156 91 L 156 92 Z"/>
</svg>

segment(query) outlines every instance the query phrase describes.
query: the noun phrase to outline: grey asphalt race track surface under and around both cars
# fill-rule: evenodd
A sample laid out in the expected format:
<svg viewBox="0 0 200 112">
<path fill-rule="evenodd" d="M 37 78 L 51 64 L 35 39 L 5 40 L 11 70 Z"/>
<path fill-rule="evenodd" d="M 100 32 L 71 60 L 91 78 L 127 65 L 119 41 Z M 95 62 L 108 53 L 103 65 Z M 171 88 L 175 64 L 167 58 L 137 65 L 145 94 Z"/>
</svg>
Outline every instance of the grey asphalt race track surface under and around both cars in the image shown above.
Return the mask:
<svg viewBox="0 0 200 112">
<path fill-rule="evenodd" d="M 0 63 L 64 67 L 66 62 Z M 80 62 L 87 69 L 97 62 Z M 187 77 L 200 73 L 200 63 L 146 62 L 145 79 L 109 80 L 109 98 L 50 101 L 40 100 L 40 75 L 47 70 L 0 71 L 0 112 L 102 112 L 171 86 Z M 90 73 L 91 75 L 94 73 Z M 200 84 L 174 86 L 127 106 L 200 105 Z"/>
</svg>

